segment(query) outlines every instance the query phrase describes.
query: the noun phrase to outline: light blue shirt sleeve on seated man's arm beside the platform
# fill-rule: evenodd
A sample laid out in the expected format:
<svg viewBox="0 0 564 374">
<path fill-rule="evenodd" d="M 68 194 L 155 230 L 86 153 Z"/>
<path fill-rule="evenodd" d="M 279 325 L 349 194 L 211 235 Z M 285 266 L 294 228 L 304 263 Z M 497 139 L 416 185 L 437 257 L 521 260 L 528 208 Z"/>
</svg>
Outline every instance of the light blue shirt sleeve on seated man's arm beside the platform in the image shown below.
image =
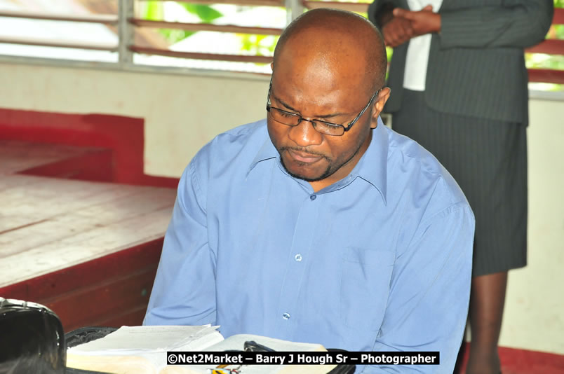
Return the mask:
<svg viewBox="0 0 564 374">
<path fill-rule="evenodd" d="M 196 155 L 178 184 L 145 325 L 215 324 L 215 255 L 208 245 L 201 159 Z"/>
</svg>

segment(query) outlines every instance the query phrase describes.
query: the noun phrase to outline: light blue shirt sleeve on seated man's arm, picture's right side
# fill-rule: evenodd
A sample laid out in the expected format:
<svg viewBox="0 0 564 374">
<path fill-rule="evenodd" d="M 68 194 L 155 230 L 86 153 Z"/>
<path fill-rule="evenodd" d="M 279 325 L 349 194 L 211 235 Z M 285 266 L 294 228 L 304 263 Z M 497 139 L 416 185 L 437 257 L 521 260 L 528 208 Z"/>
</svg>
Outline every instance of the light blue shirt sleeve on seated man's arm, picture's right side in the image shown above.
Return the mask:
<svg viewBox="0 0 564 374">
<path fill-rule="evenodd" d="M 466 203 L 417 228 L 396 255 L 374 352 L 440 352 L 440 366 L 365 366 L 363 373 L 452 373 L 466 326 L 474 214 Z"/>
</svg>

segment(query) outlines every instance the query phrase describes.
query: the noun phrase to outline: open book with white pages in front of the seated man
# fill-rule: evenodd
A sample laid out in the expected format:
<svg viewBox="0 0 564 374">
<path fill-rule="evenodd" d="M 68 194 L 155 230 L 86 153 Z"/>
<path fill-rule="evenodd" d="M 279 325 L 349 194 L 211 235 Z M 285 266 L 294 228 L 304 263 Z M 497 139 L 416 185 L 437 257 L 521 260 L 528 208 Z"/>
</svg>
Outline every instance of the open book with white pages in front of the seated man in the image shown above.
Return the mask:
<svg viewBox="0 0 564 374">
<path fill-rule="evenodd" d="M 217 326 L 123 326 L 104 338 L 67 349 L 67 367 L 116 374 L 207 374 L 213 364 L 166 365 L 168 351 L 222 352 L 242 350 L 255 342 L 278 352 L 323 352 L 323 345 L 290 342 L 258 335 L 227 339 Z M 229 366 L 228 368 L 233 368 Z M 244 374 L 328 373 L 335 365 L 244 365 Z"/>
</svg>

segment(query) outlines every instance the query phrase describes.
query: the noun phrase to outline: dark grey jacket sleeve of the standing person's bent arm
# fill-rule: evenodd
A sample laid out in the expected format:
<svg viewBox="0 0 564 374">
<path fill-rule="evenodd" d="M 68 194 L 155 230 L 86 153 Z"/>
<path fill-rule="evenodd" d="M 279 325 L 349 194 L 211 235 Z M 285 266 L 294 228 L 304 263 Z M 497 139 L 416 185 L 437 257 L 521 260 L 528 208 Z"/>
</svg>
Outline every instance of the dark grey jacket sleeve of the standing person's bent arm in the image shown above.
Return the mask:
<svg viewBox="0 0 564 374">
<path fill-rule="evenodd" d="M 439 11 L 441 48 L 526 48 L 546 36 L 553 0 L 505 0 L 502 6 Z"/>
</svg>

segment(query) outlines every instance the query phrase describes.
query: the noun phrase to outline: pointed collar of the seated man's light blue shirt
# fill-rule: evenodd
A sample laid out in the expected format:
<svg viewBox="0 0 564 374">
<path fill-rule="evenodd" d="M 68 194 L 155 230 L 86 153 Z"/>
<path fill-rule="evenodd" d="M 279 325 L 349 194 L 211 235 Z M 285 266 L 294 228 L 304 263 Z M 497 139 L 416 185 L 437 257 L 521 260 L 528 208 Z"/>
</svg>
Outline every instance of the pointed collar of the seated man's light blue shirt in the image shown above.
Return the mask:
<svg viewBox="0 0 564 374">
<path fill-rule="evenodd" d="M 387 204 L 388 133 L 384 127 L 384 123 L 379 117 L 377 127 L 372 130 L 372 139 L 368 149 L 346 179 L 350 183 L 358 176 L 367 181 L 380 192 L 384 204 Z M 267 136 L 253 162 L 251 162 L 247 175 L 254 169 L 257 163 L 271 158 L 277 159 L 279 156 L 274 144 Z"/>
</svg>

